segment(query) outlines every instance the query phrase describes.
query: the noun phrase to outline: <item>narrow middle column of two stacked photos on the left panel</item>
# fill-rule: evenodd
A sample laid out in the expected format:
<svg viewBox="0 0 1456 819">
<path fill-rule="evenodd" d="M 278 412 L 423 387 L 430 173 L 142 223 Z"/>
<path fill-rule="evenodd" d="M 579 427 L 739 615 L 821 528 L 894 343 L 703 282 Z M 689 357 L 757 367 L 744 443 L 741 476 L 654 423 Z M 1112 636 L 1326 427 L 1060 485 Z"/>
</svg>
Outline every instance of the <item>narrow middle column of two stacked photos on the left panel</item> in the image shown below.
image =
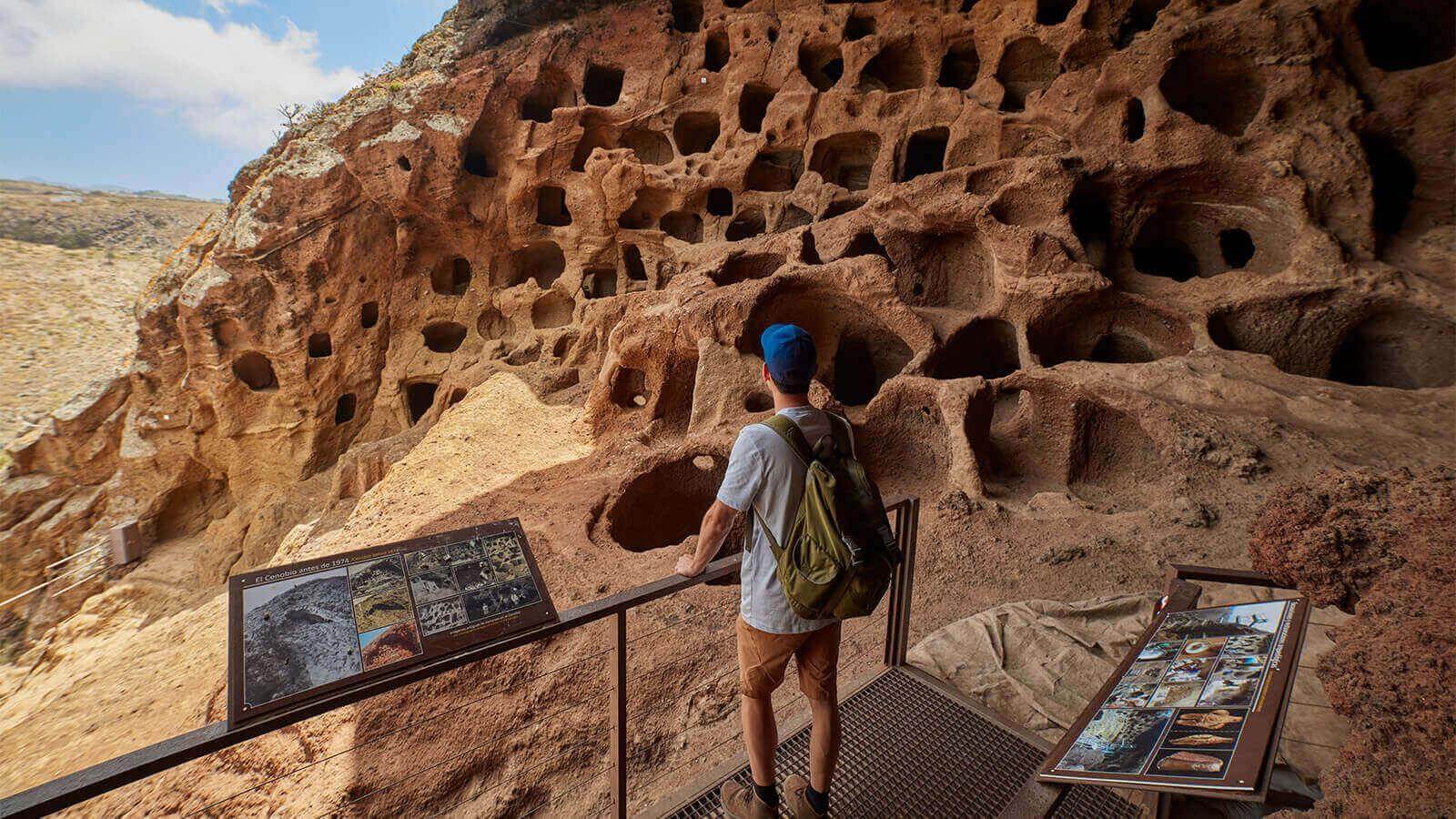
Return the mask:
<svg viewBox="0 0 1456 819">
<path fill-rule="evenodd" d="M 399 555 L 367 560 L 351 564 L 348 573 L 364 670 L 418 657 L 422 648 L 405 561 Z"/>
</svg>

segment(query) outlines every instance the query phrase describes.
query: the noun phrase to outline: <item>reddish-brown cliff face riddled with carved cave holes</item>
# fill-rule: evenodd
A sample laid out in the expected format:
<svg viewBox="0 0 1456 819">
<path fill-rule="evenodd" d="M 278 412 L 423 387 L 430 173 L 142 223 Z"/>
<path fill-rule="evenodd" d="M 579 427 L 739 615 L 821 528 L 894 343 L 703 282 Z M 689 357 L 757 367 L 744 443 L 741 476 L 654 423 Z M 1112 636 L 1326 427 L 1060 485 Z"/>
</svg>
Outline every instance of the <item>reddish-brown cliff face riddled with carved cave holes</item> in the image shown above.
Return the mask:
<svg viewBox="0 0 1456 819">
<path fill-rule="evenodd" d="M 12 446 L 0 593 L 132 517 L 202 586 L 275 560 L 501 372 L 596 440 L 505 512 L 562 522 L 547 563 L 630 567 L 558 597 L 665 573 L 770 408 L 776 321 L 887 494 L 926 498 L 929 611 L 1242 563 L 1271 472 L 1456 458 L 1428 13 L 467 0 L 245 168 L 131 372 Z"/>
</svg>

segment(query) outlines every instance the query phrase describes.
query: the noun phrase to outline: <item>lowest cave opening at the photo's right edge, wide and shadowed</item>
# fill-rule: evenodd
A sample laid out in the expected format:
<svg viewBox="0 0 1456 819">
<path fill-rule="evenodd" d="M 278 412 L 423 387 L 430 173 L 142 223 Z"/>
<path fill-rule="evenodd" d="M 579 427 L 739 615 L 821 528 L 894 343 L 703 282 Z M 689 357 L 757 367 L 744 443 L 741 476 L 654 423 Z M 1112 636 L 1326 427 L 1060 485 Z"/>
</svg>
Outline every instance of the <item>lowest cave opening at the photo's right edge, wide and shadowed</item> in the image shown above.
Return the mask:
<svg viewBox="0 0 1456 819">
<path fill-rule="evenodd" d="M 1369 315 L 1335 347 L 1329 380 L 1421 389 L 1456 383 L 1456 324 L 1414 307 Z"/>
</svg>

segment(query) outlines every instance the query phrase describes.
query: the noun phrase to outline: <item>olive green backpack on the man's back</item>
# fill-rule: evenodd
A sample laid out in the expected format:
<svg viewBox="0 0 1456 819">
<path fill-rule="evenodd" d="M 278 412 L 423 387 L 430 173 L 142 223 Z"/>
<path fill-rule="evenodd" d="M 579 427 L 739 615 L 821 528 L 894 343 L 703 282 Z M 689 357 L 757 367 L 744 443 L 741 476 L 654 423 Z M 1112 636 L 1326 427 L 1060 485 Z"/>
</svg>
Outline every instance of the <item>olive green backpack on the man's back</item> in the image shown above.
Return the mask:
<svg viewBox="0 0 1456 819">
<path fill-rule="evenodd" d="M 855 461 L 849 421 L 830 414 L 831 434 L 810 446 L 786 415 L 763 421 L 808 465 L 804 497 L 783 545 L 760 517 L 794 614 L 805 619 L 865 616 L 875 611 L 900 563 L 879 488 Z M 751 541 L 750 541 L 751 545 Z"/>
</svg>

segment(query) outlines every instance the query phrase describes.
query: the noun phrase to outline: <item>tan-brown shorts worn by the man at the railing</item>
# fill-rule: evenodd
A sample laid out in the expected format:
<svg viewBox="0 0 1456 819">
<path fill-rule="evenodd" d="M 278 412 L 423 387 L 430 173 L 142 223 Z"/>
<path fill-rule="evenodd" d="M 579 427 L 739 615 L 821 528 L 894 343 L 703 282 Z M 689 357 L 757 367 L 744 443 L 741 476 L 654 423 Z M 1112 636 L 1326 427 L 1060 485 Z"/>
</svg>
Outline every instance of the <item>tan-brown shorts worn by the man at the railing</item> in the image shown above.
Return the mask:
<svg viewBox="0 0 1456 819">
<path fill-rule="evenodd" d="M 804 634 L 770 634 L 738 618 L 738 691 L 750 700 L 767 700 L 788 669 L 799 666 L 799 689 L 810 700 L 839 695 L 839 625 Z"/>
</svg>

